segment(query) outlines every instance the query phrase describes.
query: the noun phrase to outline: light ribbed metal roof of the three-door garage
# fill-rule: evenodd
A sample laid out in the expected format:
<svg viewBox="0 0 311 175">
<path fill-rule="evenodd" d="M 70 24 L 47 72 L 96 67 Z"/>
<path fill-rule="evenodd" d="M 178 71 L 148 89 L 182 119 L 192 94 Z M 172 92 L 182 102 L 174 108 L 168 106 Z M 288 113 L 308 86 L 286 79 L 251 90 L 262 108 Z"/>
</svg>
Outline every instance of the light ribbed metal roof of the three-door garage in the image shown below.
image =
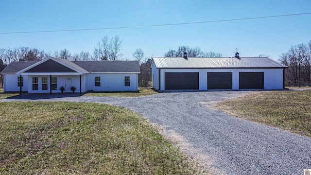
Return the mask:
<svg viewBox="0 0 311 175">
<path fill-rule="evenodd" d="M 287 68 L 268 57 L 154 57 L 160 69 L 204 69 L 204 68 Z"/>
</svg>

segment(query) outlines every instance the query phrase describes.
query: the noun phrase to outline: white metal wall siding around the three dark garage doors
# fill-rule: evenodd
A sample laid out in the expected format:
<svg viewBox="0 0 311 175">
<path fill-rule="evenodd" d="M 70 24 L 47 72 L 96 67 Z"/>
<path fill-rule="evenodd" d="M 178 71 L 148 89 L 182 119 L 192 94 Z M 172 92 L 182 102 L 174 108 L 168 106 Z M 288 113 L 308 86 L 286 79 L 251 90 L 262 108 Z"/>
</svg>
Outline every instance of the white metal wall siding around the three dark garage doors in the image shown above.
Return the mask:
<svg viewBox="0 0 311 175">
<path fill-rule="evenodd" d="M 157 70 L 157 69 L 153 69 Z M 207 72 L 232 72 L 232 89 L 239 89 L 239 72 L 264 72 L 264 89 L 283 89 L 283 69 L 160 69 L 160 89 L 165 90 L 165 72 L 199 72 L 199 90 L 207 90 Z M 154 73 L 154 81 L 158 80 Z M 156 82 L 154 83 L 156 87 Z"/>
</svg>

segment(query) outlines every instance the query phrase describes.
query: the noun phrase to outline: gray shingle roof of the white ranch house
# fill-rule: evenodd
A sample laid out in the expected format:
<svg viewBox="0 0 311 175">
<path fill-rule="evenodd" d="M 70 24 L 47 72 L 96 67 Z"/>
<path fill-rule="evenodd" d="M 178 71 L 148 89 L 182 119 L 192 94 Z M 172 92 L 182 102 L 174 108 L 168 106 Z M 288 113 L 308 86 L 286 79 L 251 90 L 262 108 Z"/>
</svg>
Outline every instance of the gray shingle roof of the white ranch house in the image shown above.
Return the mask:
<svg viewBox="0 0 311 175">
<path fill-rule="evenodd" d="M 62 58 L 51 57 L 69 67 L 83 73 L 89 72 L 140 72 L 138 61 L 70 61 Z M 37 61 L 11 62 L 1 73 L 16 73 Z"/>
</svg>

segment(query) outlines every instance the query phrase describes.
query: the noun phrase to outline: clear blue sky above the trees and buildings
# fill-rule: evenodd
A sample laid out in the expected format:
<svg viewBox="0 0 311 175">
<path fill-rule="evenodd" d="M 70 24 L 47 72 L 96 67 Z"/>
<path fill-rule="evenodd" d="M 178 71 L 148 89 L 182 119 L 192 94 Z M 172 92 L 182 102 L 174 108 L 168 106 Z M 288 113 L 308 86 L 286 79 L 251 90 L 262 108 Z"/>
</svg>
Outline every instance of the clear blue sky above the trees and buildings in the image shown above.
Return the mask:
<svg viewBox="0 0 311 175">
<path fill-rule="evenodd" d="M 128 27 L 256 18 L 311 12 L 311 0 L 0 0 L 0 33 Z M 163 56 L 180 45 L 234 56 L 270 55 L 311 40 L 311 14 L 226 22 L 52 33 L 0 34 L 0 48 L 93 53 L 119 35 L 123 59 L 140 48 Z"/>
</svg>

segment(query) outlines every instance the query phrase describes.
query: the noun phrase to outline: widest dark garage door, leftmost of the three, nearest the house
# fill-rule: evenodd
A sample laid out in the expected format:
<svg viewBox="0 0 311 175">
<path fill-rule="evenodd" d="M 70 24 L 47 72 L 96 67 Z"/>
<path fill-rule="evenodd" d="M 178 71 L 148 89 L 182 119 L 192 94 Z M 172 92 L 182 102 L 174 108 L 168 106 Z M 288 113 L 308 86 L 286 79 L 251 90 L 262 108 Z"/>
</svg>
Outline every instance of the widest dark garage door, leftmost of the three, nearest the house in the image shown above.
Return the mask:
<svg viewBox="0 0 311 175">
<path fill-rule="evenodd" d="M 199 72 L 165 72 L 165 89 L 199 89 Z"/>
</svg>

